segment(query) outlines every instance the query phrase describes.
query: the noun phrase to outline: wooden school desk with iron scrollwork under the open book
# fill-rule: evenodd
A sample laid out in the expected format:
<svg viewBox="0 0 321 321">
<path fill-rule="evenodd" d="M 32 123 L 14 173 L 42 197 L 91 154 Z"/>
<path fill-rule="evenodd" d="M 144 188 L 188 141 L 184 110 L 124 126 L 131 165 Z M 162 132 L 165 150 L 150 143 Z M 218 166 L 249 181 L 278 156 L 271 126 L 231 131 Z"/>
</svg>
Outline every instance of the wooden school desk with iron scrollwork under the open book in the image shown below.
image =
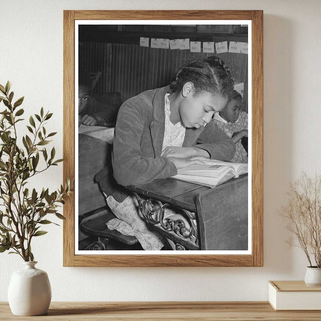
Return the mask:
<svg viewBox="0 0 321 321">
<path fill-rule="evenodd" d="M 127 188 L 145 220 L 173 250 L 247 250 L 247 182 L 246 174 L 214 188 L 173 178 Z M 172 206 L 181 215 L 164 220 L 166 207 Z"/>
</svg>

